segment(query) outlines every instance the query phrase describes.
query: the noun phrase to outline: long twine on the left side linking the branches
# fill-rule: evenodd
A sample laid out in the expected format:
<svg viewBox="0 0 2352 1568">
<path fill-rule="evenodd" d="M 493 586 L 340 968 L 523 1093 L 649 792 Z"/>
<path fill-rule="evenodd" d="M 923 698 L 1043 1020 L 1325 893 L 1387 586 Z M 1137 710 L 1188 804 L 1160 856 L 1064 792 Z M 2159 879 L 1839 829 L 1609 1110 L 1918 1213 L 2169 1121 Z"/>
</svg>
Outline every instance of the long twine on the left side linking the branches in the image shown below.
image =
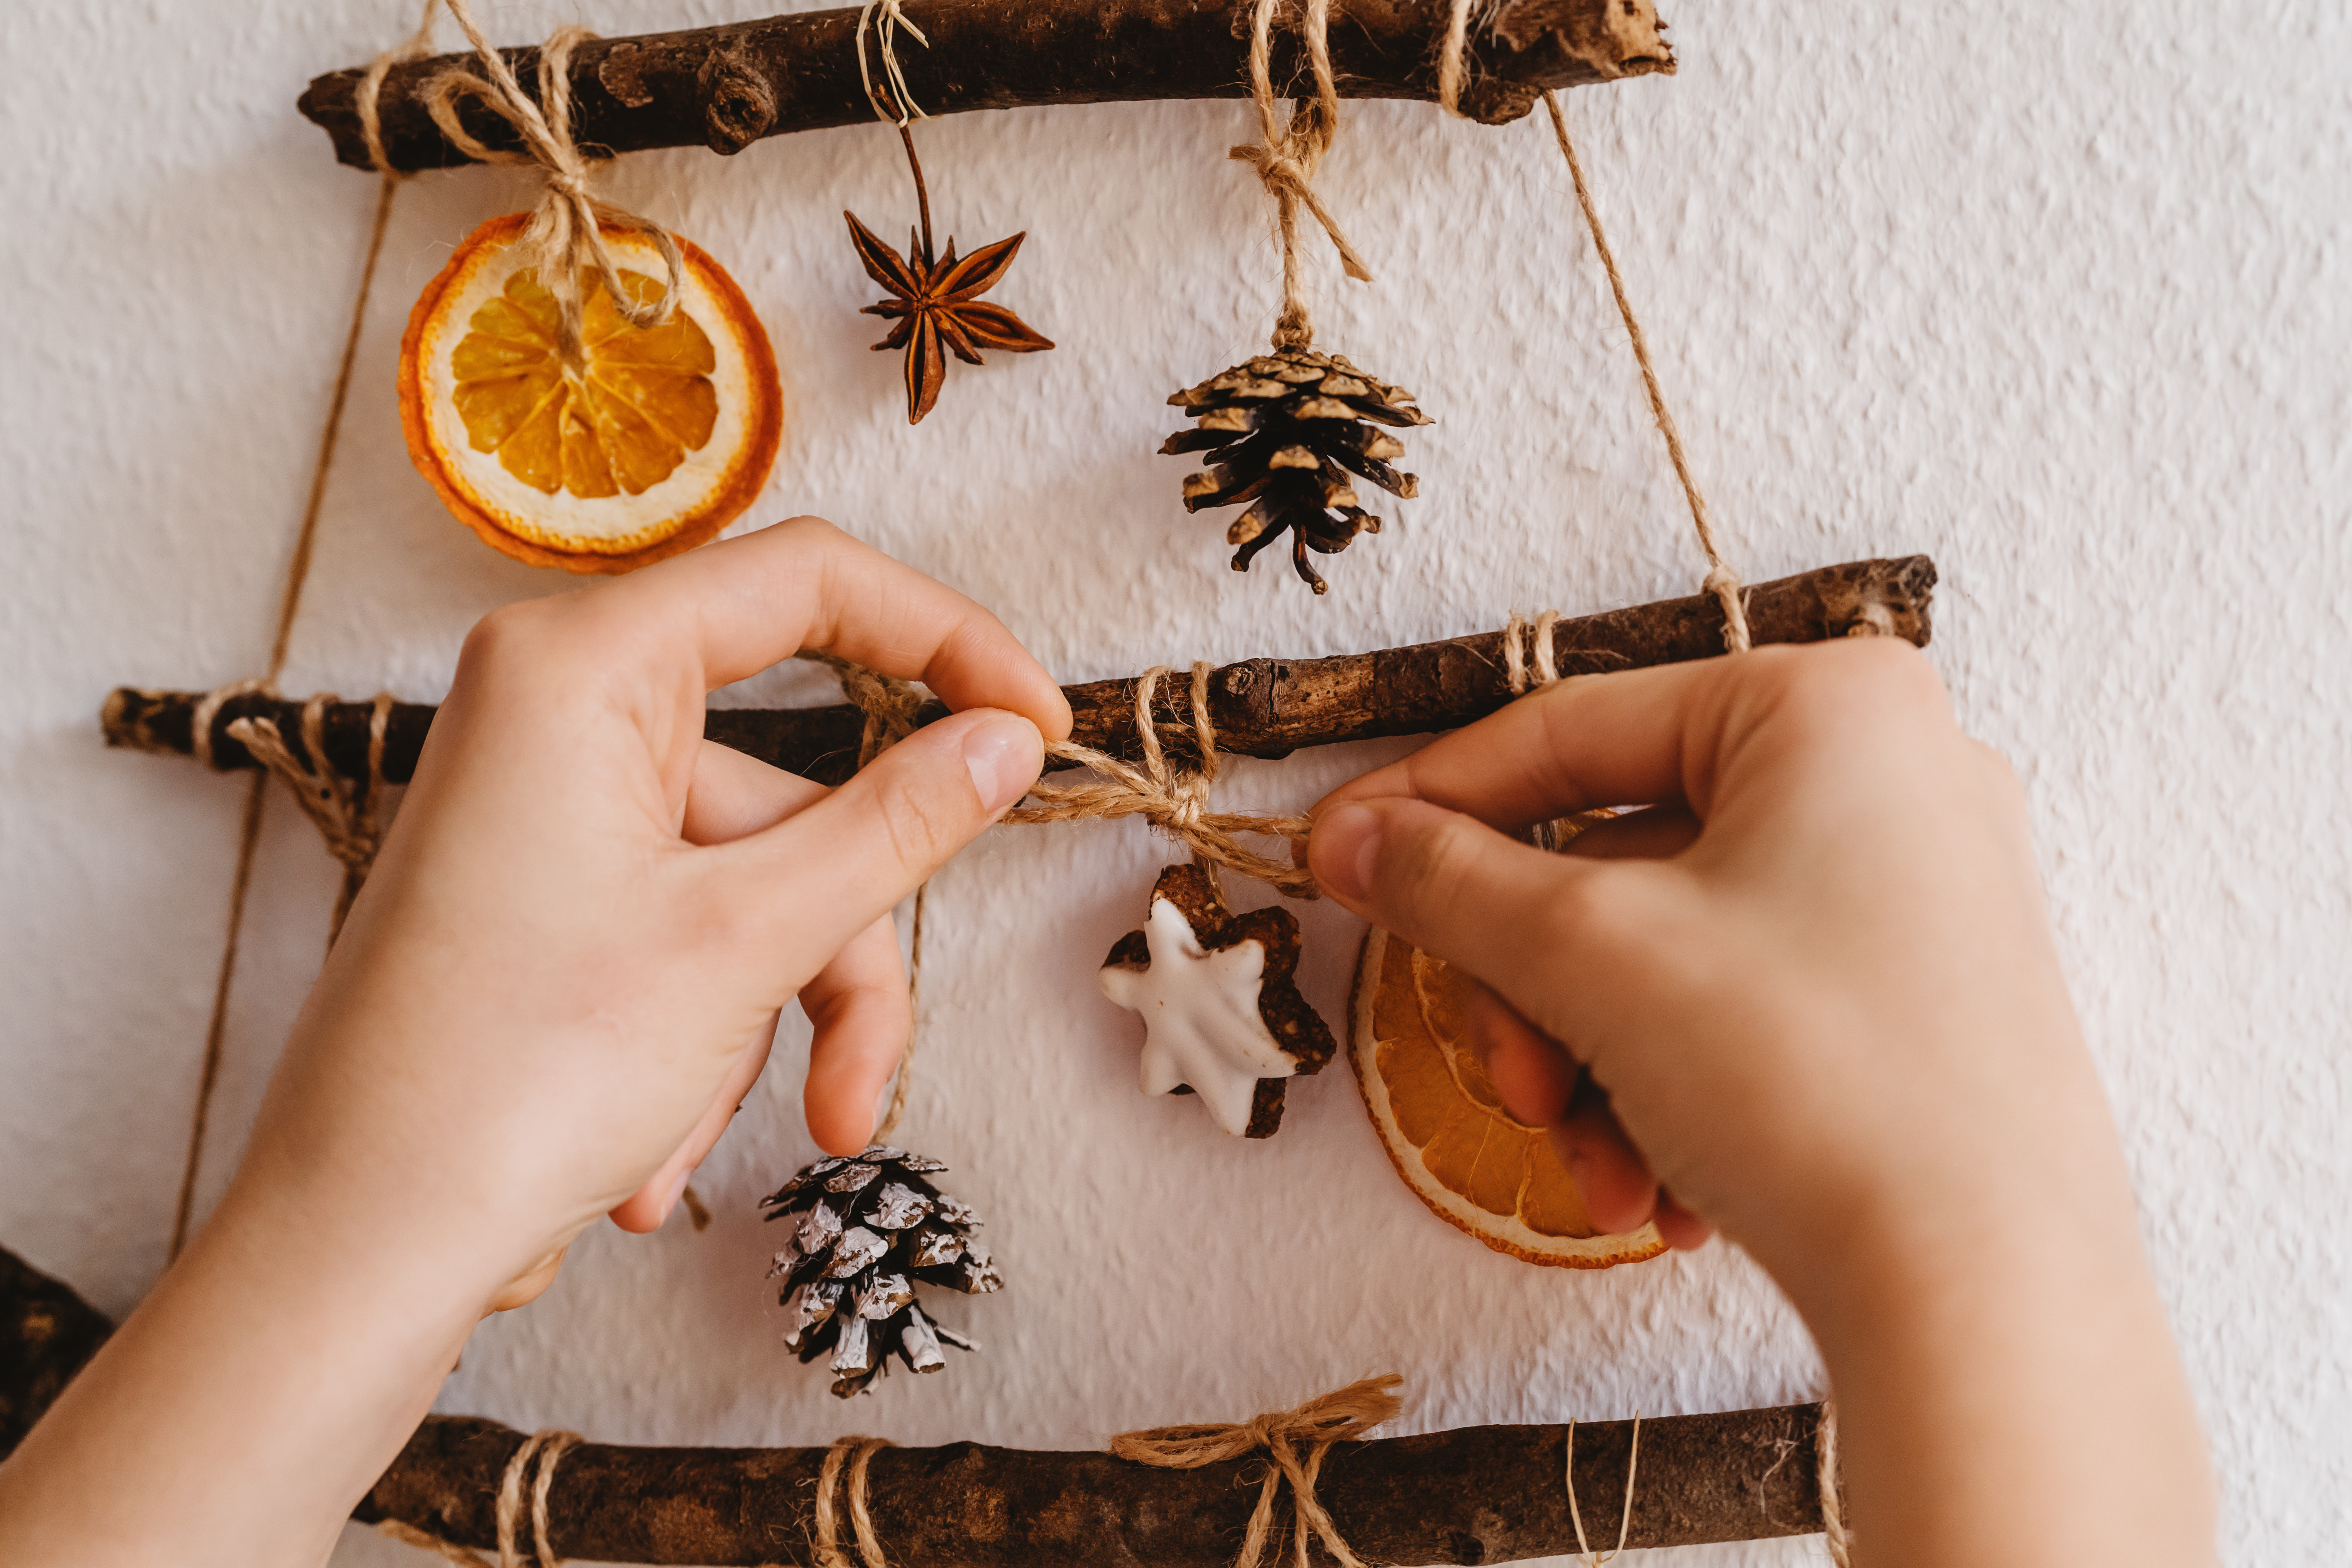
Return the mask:
<svg viewBox="0 0 2352 1568">
<path fill-rule="evenodd" d="M 350 301 L 350 324 L 343 329 L 343 357 L 334 369 L 334 393 L 327 397 L 327 418 L 318 435 L 318 456 L 310 463 L 310 494 L 303 501 L 301 527 L 294 531 L 294 555 L 287 557 L 285 590 L 278 595 L 278 628 L 270 635 L 268 672 L 259 679 L 242 679 L 205 693 L 195 705 L 195 759 L 212 766 L 212 724 L 221 703 L 247 691 L 275 691 L 278 675 L 285 672 L 287 649 L 294 639 L 294 618 L 301 614 L 301 590 L 310 581 L 310 552 L 318 541 L 318 520 L 327 501 L 327 475 L 334 470 L 334 447 L 343 435 L 343 407 L 350 402 L 350 374 L 360 360 L 360 327 L 367 322 L 367 301 L 376 287 L 376 263 L 383 259 L 383 235 L 393 221 L 393 195 L 402 174 L 383 155 L 383 129 L 376 120 L 376 99 L 383 92 L 383 75 L 405 59 L 426 54 L 433 45 L 433 7 L 428 0 L 416 33 L 407 42 L 386 49 L 360 78 L 360 132 L 367 136 L 367 155 L 376 165 L 376 216 L 367 233 L 367 261 L 360 263 L 360 289 Z M 221 966 L 212 980 L 212 1016 L 205 1020 L 205 1060 L 195 1081 L 195 1107 L 188 1117 L 188 1157 L 181 1161 L 179 1199 L 172 1206 L 172 1241 L 165 1258 L 179 1258 L 188 1246 L 188 1225 L 195 1215 L 195 1178 L 205 1161 L 205 1131 L 212 1121 L 212 1093 L 221 1081 L 221 1046 L 228 1037 L 228 990 L 238 973 L 238 945 L 245 936 L 245 900 L 254 886 L 254 853 L 261 849 L 261 799 L 268 790 L 268 771 L 256 771 L 245 788 L 245 811 L 238 823 L 235 877 L 228 886 L 228 919 L 221 933 Z"/>
</svg>

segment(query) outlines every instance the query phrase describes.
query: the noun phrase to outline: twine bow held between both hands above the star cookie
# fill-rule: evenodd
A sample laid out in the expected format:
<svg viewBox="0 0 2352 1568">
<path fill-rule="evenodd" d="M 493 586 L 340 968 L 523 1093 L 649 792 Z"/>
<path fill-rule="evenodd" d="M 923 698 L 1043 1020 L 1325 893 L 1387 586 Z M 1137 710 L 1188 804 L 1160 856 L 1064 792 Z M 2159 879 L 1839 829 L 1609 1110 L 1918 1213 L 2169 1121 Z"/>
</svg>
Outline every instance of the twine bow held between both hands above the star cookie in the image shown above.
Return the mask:
<svg viewBox="0 0 2352 1568">
<path fill-rule="evenodd" d="M 1160 724 L 1152 719 L 1152 698 L 1160 693 L 1160 682 L 1169 670 L 1167 665 L 1157 665 L 1136 682 L 1136 738 L 1143 750 L 1143 766 L 1120 762 L 1091 745 L 1051 741 L 1044 748 L 1047 757 L 1091 769 L 1094 778 L 1068 785 L 1040 780 L 1028 792 L 1037 804 L 1014 806 L 1004 813 L 1004 820 L 1077 823 L 1141 816 L 1204 863 L 1254 877 L 1291 898 L 1315 898 L 1315 872 L 1289 860 L 1261 856 L 1235 839 L 1240 832 L 1303 839 L 1312 827 L 1310 818 L 1209 811 L 1209 788 L 1218 773 L 1216 726 L 1209 722 L 1209 663 L 1192 665 L 1192 724 L 1188 738 L 1192 752 L 1200 757 L 1197 764 L 1171 764 L 1167 745 L 1160 741 Z"/>
</svg>

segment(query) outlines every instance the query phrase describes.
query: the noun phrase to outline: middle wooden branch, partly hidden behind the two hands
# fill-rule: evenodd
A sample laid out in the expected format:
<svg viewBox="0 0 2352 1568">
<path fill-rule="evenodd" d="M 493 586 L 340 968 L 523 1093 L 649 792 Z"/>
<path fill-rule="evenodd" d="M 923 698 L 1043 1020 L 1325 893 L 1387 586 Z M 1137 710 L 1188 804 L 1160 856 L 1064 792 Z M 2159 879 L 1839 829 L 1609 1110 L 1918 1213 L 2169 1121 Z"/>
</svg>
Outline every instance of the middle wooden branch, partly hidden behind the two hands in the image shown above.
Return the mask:
<svg viewBox="0 0 2352 1568">
<path fill-rule="evenodd" d="M 1748 590 L 1748 625 L 1757 644 L 1823 642 L 1889 635 L 1919 646 L 1929 639 L 1936 564 L 1924 555 L 1820 567 Z M 1705 595 L 1613 609 L 1559 621 L 1552 656 L 1562 675 L 1639 670 L 1724 651 L 1724 611 Z M 1082 745 L 1134 759 L 1136 679 L 1063 686 Z M 1503 632 L 1423 642 L 1336 658 L 1249 658 L 1209 677 L 1209 719 L 1218 750 L 1242 757 L 1289 757 L 1301 745 L 1336 745 L 1378 736 L 1421 736 L 1461 729 L 1510 701 L 1503 679 Z M 106 743 L 139 752 L 193 755 L 200 691 L 141 691 L 122 686 L 106 698 Z M 920 722 L 943 717 L 924 703 Z M 1190 684 L 1167 682 L 1155 712 L 1171 750 L 1188 750 Z M 343 778 L 367 773 L 369 703 L 327 710 L 327 762 Z M 301 703 L 247 693 L 228 698 L 212 719 L 212 766 L 259 766 L 228 733 L 240 717 L 278 719 L 287 745 L 301 752 Z M 433 708 L 397 703 L 386 726 L 383 776 L 407 783 Z M 863 717 L 856 708 L 713 708 L 703 733 L 739 752 L 821 783 L 840 783 L 856 766 Z M 303 759 L 308 755 L 303 752 Z"/>
</svg>

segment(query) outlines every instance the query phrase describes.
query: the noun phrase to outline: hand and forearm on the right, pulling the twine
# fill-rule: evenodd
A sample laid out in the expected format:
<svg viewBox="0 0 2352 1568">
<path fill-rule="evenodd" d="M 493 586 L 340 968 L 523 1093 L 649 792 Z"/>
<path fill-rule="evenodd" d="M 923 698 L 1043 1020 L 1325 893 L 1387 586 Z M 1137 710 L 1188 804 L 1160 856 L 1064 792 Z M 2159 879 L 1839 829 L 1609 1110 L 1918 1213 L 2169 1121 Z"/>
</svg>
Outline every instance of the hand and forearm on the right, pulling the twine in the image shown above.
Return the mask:
<svg viewBox="0 0 2352 1568">
<path fill-rule="evenodd" d="M 1505 837 L 1649 804 L 1552 856 Z M 2016 780 L 1896 642 L 1571 679 L 1315 809 L 1348 907 L 1484 980 L 1595 1222 L 1813 1326 L 1870 1563 L 2201 1563 L 2194 1413 Z"/>
</svg>

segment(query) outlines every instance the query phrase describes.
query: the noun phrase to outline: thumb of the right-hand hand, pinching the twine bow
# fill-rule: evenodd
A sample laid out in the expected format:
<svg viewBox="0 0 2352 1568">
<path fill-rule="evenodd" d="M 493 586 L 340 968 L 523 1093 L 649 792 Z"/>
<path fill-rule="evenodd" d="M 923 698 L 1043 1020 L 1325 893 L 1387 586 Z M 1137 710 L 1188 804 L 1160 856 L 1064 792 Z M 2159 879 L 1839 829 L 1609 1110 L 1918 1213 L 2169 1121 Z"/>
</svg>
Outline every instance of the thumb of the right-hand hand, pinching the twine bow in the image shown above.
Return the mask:
<svg viewBox="0 0 2352 1568">
<path fill-rule="evenodd" d="M 1352 799 L 1308 835 L 1322 891 L 1371 924 L 1519 999 L 1590 931 L 1595 884 L 1623 863 L 1571 860 L 1421 799 Z"/>
</svg>

